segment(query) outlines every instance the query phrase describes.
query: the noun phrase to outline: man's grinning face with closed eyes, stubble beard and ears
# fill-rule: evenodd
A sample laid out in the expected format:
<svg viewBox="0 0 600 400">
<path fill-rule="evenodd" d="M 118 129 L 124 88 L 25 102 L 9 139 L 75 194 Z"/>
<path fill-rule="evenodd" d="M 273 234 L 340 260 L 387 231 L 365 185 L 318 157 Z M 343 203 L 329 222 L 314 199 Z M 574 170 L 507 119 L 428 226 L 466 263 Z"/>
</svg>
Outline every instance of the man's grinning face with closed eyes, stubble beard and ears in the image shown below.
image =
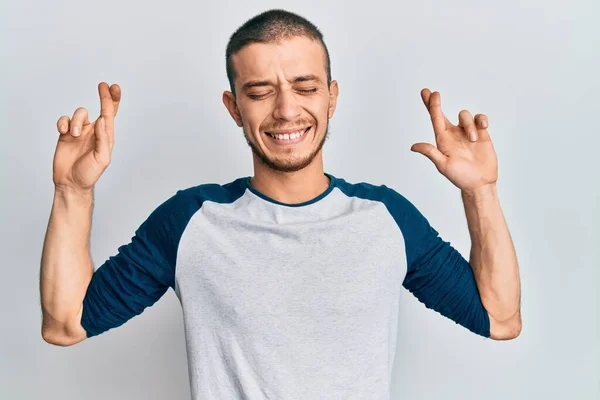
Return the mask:
<svg viewBox="0 0 600 400">
<path fill-rule="evenodd" d="M 325 50 L 306 37 L 253 43 L 233 56 L 235 89 L 223 102 L 258 161 L 276 171 L 308 166 L 327 136 L 337 82 L 327 88 Z"/>
</svg>

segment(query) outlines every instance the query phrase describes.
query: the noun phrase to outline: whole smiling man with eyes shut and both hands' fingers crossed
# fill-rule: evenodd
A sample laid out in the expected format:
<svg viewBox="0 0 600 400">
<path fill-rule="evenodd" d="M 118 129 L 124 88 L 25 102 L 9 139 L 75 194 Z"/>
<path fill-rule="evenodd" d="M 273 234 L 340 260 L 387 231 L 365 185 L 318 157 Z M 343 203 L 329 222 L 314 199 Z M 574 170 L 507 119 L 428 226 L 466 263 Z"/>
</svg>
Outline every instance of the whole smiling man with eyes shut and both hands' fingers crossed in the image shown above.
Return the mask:
<svg viewBox="0 0 600 400">
<path fill-rule="evenodd" d="M 485 115 L 462 111 L 454 126 L 440 94 L 424 89 L 437 147 L 412 147 L 461 190 L 468 262 L 398 192 L 324 171 L 338 83 L 312 23 L 265 12 L 233 34 L 226 56 L 223 102 L 252 149 L 253 176 L 179 190 L 95 272 L 93 188 L 110 162 L 121 89 L 98 86 L 94 122 L 83 108 L 58 120 L 41 265 L 46 341 L 99 335 L 172 288 L 193 398 L 384 399 L 401 285 L 475 334 L 519 334 L 518 263 Z"/>
</svg>

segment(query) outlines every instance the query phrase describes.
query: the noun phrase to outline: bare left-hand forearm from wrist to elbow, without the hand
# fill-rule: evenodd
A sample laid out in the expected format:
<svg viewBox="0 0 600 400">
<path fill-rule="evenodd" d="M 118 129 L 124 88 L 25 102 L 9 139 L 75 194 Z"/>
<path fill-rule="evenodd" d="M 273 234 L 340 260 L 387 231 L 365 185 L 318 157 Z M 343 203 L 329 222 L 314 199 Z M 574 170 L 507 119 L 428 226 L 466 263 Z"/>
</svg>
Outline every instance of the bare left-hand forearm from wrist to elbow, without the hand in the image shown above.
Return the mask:
<svg viewBox="0 0 600 400">
<path fill-rule="evenodd" d="M 42 335 L 47 340 L 82 335 L 79 317 L 94 271 L 89 253 L 92 208 L 92 192 L 54 193 L 40 267 Z"/>
</svg>

